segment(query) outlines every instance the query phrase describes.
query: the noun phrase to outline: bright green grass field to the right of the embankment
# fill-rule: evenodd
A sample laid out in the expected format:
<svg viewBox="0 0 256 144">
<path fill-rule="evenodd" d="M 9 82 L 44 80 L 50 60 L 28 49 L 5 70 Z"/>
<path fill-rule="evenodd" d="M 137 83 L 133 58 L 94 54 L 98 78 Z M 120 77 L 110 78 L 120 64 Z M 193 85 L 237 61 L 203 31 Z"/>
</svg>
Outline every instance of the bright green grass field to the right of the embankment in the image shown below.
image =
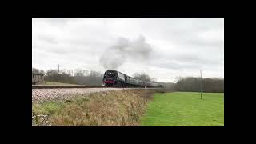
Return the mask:
<svg viewBox="0 0 256 144">
<path fill-rule="evenodd" d="M 224 126 L 224 94 L 174 92 L 154 94 L 142 126 Z"/>
</svg>

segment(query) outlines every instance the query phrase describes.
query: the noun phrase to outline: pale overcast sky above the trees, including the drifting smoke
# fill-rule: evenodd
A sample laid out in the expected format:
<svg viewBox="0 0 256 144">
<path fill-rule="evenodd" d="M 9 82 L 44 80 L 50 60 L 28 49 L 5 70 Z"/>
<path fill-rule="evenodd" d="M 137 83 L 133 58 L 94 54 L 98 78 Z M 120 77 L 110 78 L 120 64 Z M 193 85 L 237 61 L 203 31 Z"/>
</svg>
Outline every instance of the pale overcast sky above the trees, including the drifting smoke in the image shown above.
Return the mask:
<svg viewBox="0 0 256 144">
<path fill-rule="evenodd" d="M 224 78 L 224 18 L 32 18 L 32 67 Z"/>
</svg>

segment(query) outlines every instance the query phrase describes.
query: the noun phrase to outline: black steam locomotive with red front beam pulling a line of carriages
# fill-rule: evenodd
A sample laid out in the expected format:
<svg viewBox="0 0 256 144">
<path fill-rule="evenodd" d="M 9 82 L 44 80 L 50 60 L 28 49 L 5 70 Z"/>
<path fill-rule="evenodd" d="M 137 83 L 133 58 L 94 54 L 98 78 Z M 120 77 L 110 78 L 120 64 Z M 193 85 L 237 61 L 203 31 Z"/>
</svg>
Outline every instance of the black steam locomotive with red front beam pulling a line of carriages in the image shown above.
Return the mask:
<svg viewBox="0 0 256 144">
<path fill-rule="evenodd" d="M 117 70 L 106 70 L 103 77 L 103 85 L 106 87 L 162 87 L 159 83 L 143 82 L 122 74 Z"/>
</svg>

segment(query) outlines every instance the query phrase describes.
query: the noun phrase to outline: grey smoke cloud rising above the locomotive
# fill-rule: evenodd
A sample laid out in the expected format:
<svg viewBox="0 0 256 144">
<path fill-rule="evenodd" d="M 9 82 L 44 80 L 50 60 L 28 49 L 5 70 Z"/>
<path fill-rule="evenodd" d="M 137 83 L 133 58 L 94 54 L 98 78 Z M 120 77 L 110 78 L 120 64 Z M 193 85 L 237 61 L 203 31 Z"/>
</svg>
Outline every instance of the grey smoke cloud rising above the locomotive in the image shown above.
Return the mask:
<svg viewBox="0 0 256 144">
<path fill-rule="evenodd" d="M 119 38 L 114 46 L 110 46 L 99 59 L 100 64 L 106 69 L 116 69 L 128 58 L 139 61 L 149 58 L 152 51 L 150 44 L 146 43 L 143 36 L 131 41 L 127 38 Z"/>
</svg>

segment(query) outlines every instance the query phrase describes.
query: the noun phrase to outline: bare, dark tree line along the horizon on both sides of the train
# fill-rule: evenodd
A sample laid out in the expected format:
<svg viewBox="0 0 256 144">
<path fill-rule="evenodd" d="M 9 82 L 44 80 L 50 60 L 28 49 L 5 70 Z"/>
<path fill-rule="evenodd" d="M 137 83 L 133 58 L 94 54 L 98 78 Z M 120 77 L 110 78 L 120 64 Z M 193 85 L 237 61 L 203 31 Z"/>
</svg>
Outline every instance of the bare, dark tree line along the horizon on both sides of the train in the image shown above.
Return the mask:
<svg viewBox="0 0 256 144">
<path fill-rule="evenodd" d="M 32 68 L 33 73 L 42 73 L 45 75 L 45 81 L 62 82 L 78 85 L 88 86 L 102 86 L 103 74 L 94 70 L 75 70 L 73 71 L 60 71 L 58 70 L 38 70 Z M 140 79 L 145 82 L 157 82 L 156 78 L 151 78 L 145 73 L 135 73 L 134 78 Z M 165 86 L 168 91 L 191 91 L 199 92 L 201 90 L 201 78 L 195 77 L 178 77 L 177 82 L 159 82 Z M 202 91 L 203 92 L 224 92 L 224 78 L 202 78 Z"/>
</svg>

